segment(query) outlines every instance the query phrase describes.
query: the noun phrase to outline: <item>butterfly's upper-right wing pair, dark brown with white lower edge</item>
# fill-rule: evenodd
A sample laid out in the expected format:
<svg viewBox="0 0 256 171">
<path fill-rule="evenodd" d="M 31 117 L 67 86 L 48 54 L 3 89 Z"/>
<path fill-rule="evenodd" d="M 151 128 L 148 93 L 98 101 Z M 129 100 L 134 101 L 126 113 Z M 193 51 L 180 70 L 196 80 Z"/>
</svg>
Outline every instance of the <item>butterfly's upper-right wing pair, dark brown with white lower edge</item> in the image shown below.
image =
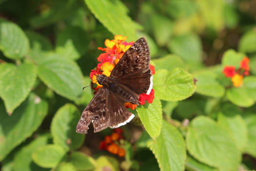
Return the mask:
<svg viewBox="0 0 256 171">
<path fill-rule="evenodd" d="M 124 53 L 110 76 L 137 95 L 149 94 L 153 87 L 153 76 L 149 64 L 148 44 L 144 38 L 140 38 Z"/>
</svg>

